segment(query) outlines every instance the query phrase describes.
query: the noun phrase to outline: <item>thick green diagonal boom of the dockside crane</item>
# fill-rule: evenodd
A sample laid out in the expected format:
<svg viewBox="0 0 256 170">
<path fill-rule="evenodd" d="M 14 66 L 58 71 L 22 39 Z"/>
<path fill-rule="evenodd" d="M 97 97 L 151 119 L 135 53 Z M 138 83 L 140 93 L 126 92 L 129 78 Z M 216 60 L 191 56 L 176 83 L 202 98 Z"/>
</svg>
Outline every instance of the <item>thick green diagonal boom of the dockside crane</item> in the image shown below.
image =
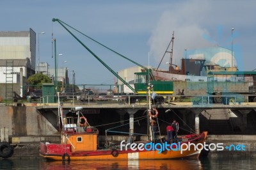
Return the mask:
<svg viewBox="0 0 256 170">
<path fill-rule="evenodd" d="M 88 52 L 90 52 L 96 59 L 98 59 L 98 61 L 100 61 L 100 63 L 102 63 L 102 65 L 104 65 L 111 73 L 113 73 L 113 75 L 115 75 L 118 79 L 120 79 L 120 81 L 122 81 L 126 86 L 128 86 L 134 93 L 137 93 L 137 91 L 132 88 L 132 86 L 130 86 L 130 84 L 128 84 L 126 81 L 124 81 L 124 79 L 122 79 L 122 77 L 120 77 L 114 70 L 112 70 L 108 65 L 106 65 L 106 63 L 104 63 L 104 61 L 102 61 L 102 59 L 100 59 L 94 52 L 92 52 L 92 50 L 90 50 L 86 45 L 84 45 L 83 42 L 81 42 L 81 40 L 79 40 L 79 38 L 77 38 L 67 27 L 64 26 L 61 20 L 59 19 L 52 19 L 52 22 L 58 22 L 61 26 L 63 26 L 68 33 L 70 33 L 70 35 L 72 35 L 77 42 L 81 43 L 81 45 L 83 45 L 83 47 L 88 50 Z M 92 38 L 90 38 L 92 40 Z"/>
</svg>

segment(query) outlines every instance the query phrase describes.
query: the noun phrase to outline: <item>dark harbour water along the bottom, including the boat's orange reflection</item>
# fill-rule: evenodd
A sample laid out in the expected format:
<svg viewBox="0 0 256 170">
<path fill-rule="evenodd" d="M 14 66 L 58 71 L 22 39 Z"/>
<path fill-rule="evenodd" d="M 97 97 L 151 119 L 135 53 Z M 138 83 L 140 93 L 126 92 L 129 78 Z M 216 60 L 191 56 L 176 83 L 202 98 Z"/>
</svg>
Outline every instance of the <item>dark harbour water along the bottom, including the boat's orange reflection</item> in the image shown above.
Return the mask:
<svg viewBox="0 0 256 170">
<path fill-rule="evenodd" d="M 256 158 L 199 160 L 47 161 L 41 158 L 0 160 L 0 169 L 256 169 Z"/>
</svg>

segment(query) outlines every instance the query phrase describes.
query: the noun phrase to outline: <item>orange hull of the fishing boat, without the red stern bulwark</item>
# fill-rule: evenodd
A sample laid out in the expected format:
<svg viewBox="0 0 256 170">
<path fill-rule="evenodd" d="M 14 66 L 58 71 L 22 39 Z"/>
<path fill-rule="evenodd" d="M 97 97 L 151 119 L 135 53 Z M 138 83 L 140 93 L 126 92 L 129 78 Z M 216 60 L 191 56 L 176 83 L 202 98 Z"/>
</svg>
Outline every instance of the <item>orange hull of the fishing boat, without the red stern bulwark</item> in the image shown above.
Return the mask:
<svg viewBox="0 0 256 170">
<path fill-rule="evenodd" d="M 191 141 L 193 144 L 204 144 L 207 137 L 207 132 L 203 132 L 198 139 Z M 184 142 L 183 142 L 184 143 Z M 173 158 L 198 158 L 200 150 L 184 150 L 182 153 L 180 150 L 143 150 L 143 151 L 132 151 L 129 150 L 115 150 L 117 153 L 113 154 L 113 150 L 97 150 L 88 152 L 77 152 L 77 153 L 47 153 L 40 151 L 40 155 L 51 160 L 152 160 L 152 159 L 173 159 Z M 65 156 L 65 157 L 64 157 Z"/>
</svg>

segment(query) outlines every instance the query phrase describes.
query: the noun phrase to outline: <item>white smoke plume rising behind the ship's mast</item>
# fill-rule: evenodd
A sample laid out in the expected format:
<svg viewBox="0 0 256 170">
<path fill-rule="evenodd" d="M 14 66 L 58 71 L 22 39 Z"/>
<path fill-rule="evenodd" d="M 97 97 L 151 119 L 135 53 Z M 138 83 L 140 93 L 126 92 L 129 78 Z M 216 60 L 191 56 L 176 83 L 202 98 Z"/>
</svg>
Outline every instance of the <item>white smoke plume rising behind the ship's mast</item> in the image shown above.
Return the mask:
<svg viewBox="0 0 256 170">
<path fill-rule="evenodd" d="M 197 3 L 196 3 L 197 2 Z M 152 31 L 152 36 L 148 41 L 150 45 L 150 57 L 154 58 L 156 67 L 163 54 L 172 40 L 172 33 L 174 31 L 173 43 L 173 64 L 180 65 L 180 59 L 185 49 L 204 48 L 212 45 L 207 42 L 202 35 L 208 34 L 204 27 L 200 26 L 200 22 L 204 21 L 202 13 L 207 11 L 209 4 L 200 1 L 202 6 L 198 6 L 198 1 L 192 4 L 184 3 L 179 8 L 173 7 L 173 10 L 163 12 L 157 26 Z M 170 45 L 171 46 L 171 45 Z M 171 48 L 168 49 L 170 51 Z M 166 62 L 170 61 L 170 54 L 164 56 L 164 60 L 160 68 L 166 68 Z"/>
</svg>

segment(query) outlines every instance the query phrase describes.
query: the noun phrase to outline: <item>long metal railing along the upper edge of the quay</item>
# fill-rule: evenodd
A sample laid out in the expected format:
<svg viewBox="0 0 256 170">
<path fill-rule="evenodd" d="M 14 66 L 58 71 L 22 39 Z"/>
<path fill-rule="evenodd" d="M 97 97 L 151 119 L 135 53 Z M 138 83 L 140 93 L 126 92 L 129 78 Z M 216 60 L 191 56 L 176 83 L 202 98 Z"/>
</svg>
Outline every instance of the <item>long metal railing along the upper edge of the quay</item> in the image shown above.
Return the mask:
<svg viewBox="0 0 256 170">
<path fill-rule="evenodd" d="M 255 95 L 256 96 L 256 95 Z M 56 103 L 57 100 L 55 99 L 54 102 L 52 101 L 52 97 L 55 98 L 55 96 L 52 95 L 45 95 L 44 97 L 40 97 L 37 100 L 34 100 L 38 104 L 49 104 L 49 103 Z M 115 97 L 108 97 L 107 100 L 101 101 L 101 100 L 91 100 L 88 102 L 87 100 L 85 102 L 82 102 L 79 100 L 79 98 L 71 98 L 69 100 L 64 100 L 64 98 L 60 98 L 61 102 L 67 102 L 67 103 L 75 103 L 75 104 L 136 104 L 140 105 L 141 103 L 147 102 L 146 95 L 116 95 Z M 165 103 L 165 104 L 172 104 L 173 102 L 179 102 L 179 103 L 186 103 L 189 102 L 192 105 L 212 105 L 216 104 L 214 103 L 214 98 L 221 98 L 219 104 L 224 105 L 237 105 L 241 104 L 243 102 L 248 103 L 249 97 L 254 97 L 252 95 L 194 95 L 194 96 L 188 96 L 188 95 L 162 95 L 164 100 L 160 101 L 159 103 Z M 51 100 L 50 100 L 51 98 Z"/>
</svg>

